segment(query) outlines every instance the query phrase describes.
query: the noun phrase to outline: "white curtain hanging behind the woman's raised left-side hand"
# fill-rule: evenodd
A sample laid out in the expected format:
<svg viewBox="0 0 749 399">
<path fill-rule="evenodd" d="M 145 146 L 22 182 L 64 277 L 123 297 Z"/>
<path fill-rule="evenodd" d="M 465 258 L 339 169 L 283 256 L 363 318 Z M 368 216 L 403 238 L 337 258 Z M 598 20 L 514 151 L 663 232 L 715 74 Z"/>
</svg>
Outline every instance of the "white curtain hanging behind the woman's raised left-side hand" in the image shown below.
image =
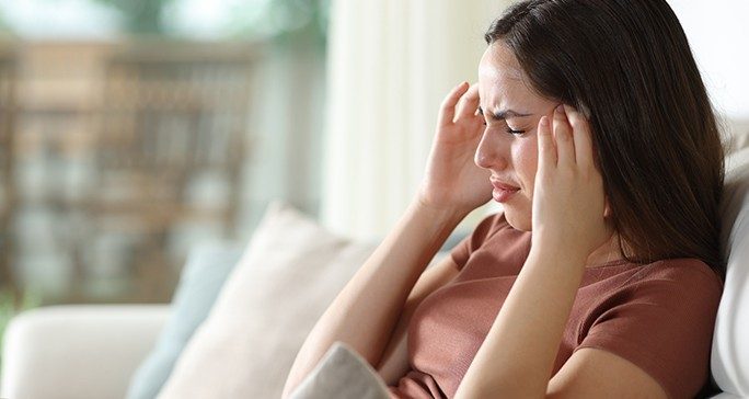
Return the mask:
<svg viewBox="0 0 749 399">
<path fill-rule="evenodd" d="M 416 194 L 439 103 L 476 80 L 509 0 L 333 0 L 321 219 L 382 238 Z M 472 224 L 485 210 L 466 218 Z"/>
</svg>

